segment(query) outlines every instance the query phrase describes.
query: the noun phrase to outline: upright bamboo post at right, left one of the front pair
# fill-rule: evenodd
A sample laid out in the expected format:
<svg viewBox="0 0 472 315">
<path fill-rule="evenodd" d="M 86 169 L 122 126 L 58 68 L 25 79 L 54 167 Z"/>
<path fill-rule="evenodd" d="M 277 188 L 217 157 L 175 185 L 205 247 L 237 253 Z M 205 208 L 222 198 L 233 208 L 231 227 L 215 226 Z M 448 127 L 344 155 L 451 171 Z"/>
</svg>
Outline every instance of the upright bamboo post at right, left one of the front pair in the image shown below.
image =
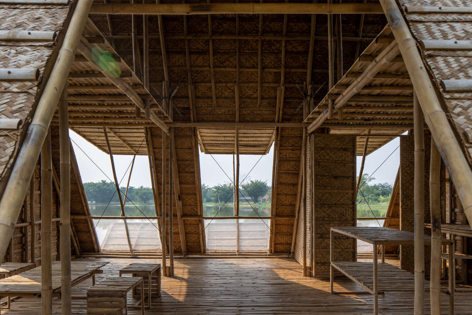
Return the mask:
<svg viewBox="0 0 472 315">
<path fill-rule="evenodd" d="M 414 92 L 414 315 L 424 312 L 424 128 Z"/>
</svg>

